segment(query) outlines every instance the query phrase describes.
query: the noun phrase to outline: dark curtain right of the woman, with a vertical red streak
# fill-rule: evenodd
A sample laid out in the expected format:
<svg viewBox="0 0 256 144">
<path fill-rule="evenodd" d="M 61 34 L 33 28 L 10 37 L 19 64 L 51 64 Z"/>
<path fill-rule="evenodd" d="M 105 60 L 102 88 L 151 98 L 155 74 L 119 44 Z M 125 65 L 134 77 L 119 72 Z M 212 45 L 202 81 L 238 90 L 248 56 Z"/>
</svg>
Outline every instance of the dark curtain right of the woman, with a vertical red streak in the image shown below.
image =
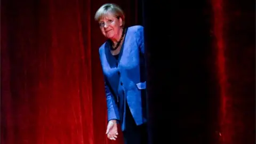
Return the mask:
<svg viewBox="0 0 256 144">
<path fill-rule="evenodd" d="M 151 144 L 255 143 L 255 2 L 143 7 Z"/>
</svg>

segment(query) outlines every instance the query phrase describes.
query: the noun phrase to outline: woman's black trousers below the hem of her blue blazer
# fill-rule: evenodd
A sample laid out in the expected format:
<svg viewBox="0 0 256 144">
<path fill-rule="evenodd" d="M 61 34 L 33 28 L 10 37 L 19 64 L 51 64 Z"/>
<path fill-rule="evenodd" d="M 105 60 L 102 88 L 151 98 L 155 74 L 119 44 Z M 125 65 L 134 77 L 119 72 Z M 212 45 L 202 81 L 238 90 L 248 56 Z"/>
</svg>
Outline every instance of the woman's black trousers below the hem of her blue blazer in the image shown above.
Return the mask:
<svg viewBox="0 0 256 144">
<path fill-rule="evenodd" d="M 147 125 L 136 125 L 127 102 L 125 128 L 123 131 L 125 144 L 148 144 Z"/>
</svg>

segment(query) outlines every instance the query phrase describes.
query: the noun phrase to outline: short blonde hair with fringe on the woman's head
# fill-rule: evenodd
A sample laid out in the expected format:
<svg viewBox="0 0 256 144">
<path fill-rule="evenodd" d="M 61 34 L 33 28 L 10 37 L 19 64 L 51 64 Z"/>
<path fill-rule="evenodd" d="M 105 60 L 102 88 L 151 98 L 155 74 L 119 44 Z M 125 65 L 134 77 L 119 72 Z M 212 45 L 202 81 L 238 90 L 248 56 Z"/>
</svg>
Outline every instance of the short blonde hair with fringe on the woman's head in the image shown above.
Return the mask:
<svg viewBox="0 0 256 144">
<path fill-rule="evenodd" d="M 109 12 L 115 14 L 118 19 L 122 18 L 123 26 L 124 26 L 124 22 L 125 22 L 125 20 L 124 20 L 124 12 L 121 9 L 121 7 L 119 7 L 118 5 L 113 4 L 113 3 L 103 4 L 98 9 L 98 11 L 95 13 L 95 16 L 94 16 L 95 21 L 99 21 L 102 17 L 104 17 L 105 14 L 107 14 Z"/>
</svg>

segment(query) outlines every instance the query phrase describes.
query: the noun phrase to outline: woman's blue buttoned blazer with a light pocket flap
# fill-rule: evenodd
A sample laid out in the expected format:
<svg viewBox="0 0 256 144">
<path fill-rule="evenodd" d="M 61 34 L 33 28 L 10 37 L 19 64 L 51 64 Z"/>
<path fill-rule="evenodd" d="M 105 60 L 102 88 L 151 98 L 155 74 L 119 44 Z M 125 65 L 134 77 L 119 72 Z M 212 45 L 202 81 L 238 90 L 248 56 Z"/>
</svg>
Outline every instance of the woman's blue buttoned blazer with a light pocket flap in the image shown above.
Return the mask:
<svg viewBox="0 0 256 144">
<path fill-rule="evenodd" d="M 100 46 L 105 80 L 108 121 L 117 119 L 125 130 L 126 101 L 137 125 L 146 122 L 146 64 L 142 26 L 127 28 L 119 58 L 110 53 L 110 43 Z"/>
</svg>

